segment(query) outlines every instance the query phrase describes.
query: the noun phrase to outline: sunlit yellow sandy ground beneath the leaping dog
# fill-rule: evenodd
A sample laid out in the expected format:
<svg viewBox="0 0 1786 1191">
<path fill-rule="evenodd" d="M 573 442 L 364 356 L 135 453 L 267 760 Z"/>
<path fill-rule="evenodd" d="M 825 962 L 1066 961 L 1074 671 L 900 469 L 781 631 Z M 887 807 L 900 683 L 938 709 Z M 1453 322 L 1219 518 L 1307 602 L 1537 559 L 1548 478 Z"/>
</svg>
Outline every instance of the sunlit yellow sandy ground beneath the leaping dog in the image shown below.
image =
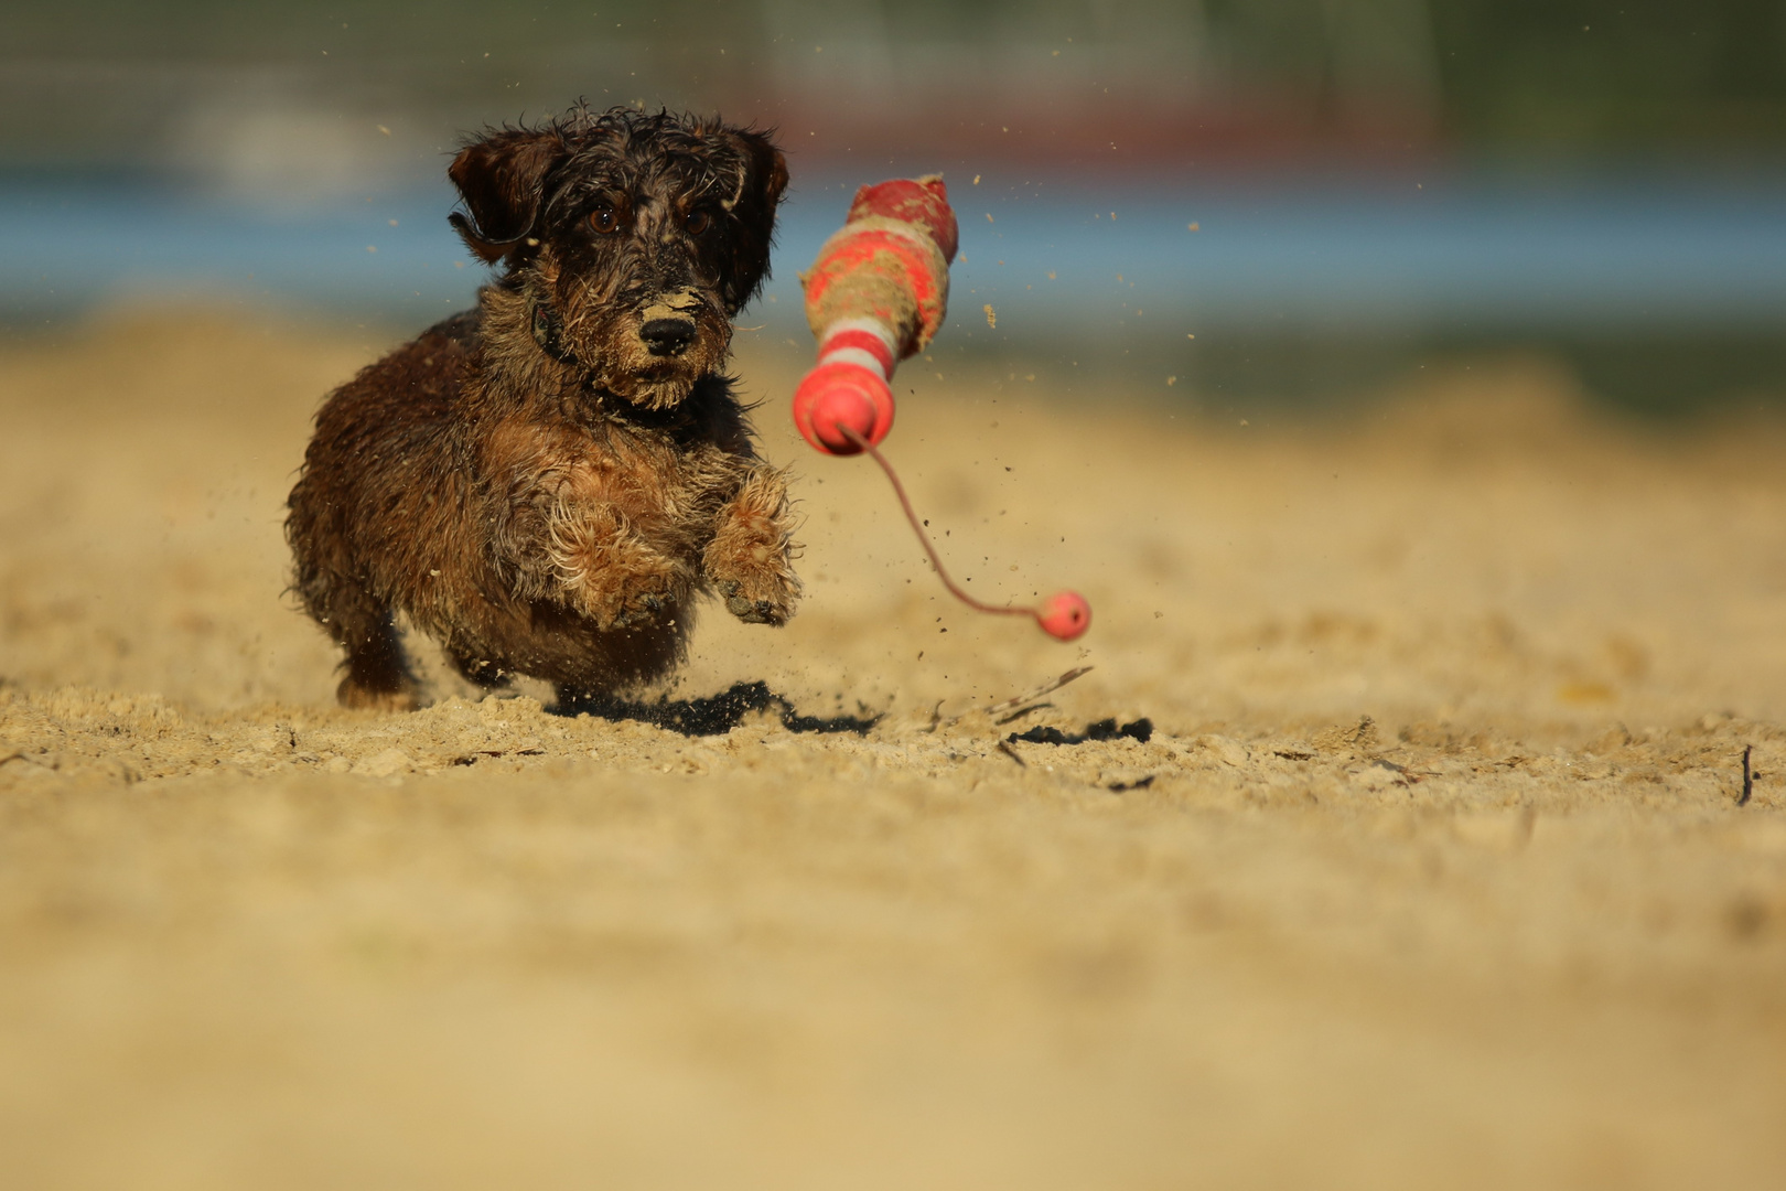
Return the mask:
<svg viewBox="0 0 1786 1191">
<path fill-rule="evenodd" d="M 747 343 L 798 618 L 713 609 L 686 730 L 380 716 L 279 529 L 380 346 L 0 354 L 5 1186 L 1786 1186 L 1781 427 L 907 366 L 914 498 L 1063 646 Z"/>
</svg>

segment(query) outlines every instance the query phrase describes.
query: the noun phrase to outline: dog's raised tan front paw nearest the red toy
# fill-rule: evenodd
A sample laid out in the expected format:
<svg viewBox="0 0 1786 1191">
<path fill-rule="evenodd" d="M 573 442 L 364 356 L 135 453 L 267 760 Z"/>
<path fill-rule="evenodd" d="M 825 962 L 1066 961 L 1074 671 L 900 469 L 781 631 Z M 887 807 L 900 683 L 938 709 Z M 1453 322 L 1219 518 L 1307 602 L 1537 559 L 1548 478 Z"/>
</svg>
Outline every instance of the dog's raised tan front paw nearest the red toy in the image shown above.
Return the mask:
<svg viewBox="0 0 1786 1191">
<path fill-rule="evenodd" d="M 793 514 L 788 480 L 770 466 L 755 466 L 720 507 L 702 568 L 725 611 L 754 625 L 782 625 L 800 598 L 793 573 Z"/>
</svg>

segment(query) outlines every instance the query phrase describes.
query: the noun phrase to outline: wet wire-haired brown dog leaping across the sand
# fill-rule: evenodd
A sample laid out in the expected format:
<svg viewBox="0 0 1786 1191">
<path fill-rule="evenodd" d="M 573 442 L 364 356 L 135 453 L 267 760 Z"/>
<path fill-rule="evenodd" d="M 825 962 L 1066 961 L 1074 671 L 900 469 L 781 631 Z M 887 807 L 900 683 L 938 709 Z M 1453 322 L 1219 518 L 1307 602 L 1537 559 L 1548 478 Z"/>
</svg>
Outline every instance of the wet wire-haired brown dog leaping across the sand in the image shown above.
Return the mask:
<svg viewBox="0 0 1786 1191">
<path fill-rule="evenodd" d="M 418 705 L 396 612 L 470 682 L 545 679 L 561 705 L 668 673 L 702 595 L 784 623 L 788 484 L 725 371 L 788 186 L 772 134 L 577 107 L 488 130 L 448 177 L 498 275 L 325 398 L 288 502 L 338 700 Z"/>
</svg>

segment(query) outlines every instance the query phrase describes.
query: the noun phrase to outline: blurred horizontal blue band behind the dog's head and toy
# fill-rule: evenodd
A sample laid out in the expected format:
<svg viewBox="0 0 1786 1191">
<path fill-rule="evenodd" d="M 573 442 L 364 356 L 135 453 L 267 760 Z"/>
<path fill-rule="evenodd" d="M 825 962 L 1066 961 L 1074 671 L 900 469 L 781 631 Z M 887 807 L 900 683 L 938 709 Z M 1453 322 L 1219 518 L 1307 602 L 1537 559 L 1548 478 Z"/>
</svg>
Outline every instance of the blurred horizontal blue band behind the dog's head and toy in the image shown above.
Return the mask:
<svg viewBox="0 0 1786 1191">
<path fill-rule="evenodd" d="M 825 177 L 797 187 L 768 287 L 777 302 L 750 321 L 798 327 L 797 273 L 841 221 L 850 189 Z M 1786 318 L 1786 179 L 1459 175 L 1416 187 L 1293 173 L 1129 186 L 986 177 L 952 179 L 952 196 L 966 257 L 954 321 L 975 339 L 1768 330 Z M 0 179 L 0 318 L 211 293 L 429 321 L 466 305 L 482 277 L 446 227 L 450 207 L 445 184 L 298 207 Z M 998 311 L 997 334 L 984 304 Z"/>
</svg>

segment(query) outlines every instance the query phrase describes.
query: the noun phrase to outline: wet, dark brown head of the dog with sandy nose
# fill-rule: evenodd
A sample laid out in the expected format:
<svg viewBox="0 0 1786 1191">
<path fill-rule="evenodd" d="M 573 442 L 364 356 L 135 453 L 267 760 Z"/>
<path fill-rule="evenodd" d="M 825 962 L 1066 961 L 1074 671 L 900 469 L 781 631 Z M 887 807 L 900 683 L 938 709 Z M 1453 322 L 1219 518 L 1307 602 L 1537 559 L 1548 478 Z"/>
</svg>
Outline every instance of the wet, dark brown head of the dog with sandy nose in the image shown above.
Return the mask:
<svg viewBox="0 0 1786 1191">
<path fill-rule="evenodd" d="M 504 264 L 541 350 L 664 409 L 725 362 L 768 277 L 788 166 L 763 132 L 614 107 L 491 132 L 448 177 L 454 227 Z"/>
</svg>

